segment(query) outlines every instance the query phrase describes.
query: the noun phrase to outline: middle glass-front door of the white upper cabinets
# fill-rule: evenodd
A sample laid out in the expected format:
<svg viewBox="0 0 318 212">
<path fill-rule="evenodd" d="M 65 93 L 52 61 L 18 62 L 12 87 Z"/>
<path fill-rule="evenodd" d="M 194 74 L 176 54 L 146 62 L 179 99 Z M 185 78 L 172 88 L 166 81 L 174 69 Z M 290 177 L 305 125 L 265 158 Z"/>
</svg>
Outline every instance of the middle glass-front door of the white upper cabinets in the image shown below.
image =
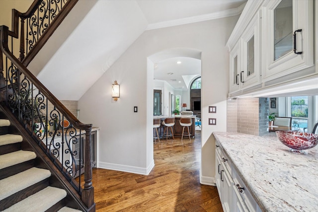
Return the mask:
<svg viewBox="0 0 318 212">
<path fill-rule="evenodd" d="M 240 87 L 243 89 L 260 83 L 260 24 L 261 10 L 255 15 L 249 27 L 241 37 L 239 82 Z"/>
</svg>

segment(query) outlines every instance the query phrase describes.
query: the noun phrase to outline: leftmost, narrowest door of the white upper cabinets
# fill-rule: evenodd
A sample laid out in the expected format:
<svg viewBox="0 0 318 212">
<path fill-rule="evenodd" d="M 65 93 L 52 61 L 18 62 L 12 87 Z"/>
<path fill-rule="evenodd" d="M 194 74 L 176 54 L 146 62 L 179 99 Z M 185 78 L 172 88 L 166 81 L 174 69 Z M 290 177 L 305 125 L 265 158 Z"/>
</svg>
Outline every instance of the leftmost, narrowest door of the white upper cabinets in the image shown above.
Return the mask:
<svg viewBox="0 0 318 212">
<path fill-rule="evenodd" d="M 239 42 L 230 52 L 230 92 L 239 90 Z"/>
</svg>

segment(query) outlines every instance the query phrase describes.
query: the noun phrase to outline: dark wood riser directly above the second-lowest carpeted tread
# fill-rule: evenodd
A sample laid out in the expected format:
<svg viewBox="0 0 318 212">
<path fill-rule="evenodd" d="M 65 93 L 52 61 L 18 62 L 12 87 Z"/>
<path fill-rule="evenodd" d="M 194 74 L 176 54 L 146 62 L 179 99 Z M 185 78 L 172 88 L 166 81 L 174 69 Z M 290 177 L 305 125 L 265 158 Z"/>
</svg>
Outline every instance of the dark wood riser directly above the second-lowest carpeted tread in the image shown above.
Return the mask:
<svg viewBox="0 0 318 212">
<path fill-rule="evenodd" d="M 32 194 L 35 194 L 42 189 L 48 187 L 50 184 L 49 178 L 42 180 L 28 188 L 25 188 L 3 200 L 0 201 L 0 211 L 3 211 L 12 205 L 16 204 L 17 202 L 31 196 Z M 48 197 L 49 198 L 49 197 Z"/>
</svg>

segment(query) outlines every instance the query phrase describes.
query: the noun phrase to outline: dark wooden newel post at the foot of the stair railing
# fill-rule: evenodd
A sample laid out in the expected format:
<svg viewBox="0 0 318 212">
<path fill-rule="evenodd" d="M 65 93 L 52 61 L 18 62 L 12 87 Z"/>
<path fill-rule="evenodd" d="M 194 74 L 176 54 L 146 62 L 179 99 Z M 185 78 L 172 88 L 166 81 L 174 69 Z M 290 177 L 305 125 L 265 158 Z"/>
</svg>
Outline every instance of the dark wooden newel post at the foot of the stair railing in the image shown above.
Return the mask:
<svg viewBox="0 0 318 212">
<path fill-rule="evenodd" d="M 91 128 L 86 131 L 86 141 L 85 141 L 85 158 L 84 158 L 84 189 L 82 190 L 81 194 L 81 200 L 83 203 L 87 206 L 87 208 L 90 208 L 94 205 L 94 187 L 92 185 L 92 170 L 91 170 L 91 159 L 90 159 L 90 146 L 91 146 L 91 140 L 90 140 L 90 131 Z"/>
</svg>

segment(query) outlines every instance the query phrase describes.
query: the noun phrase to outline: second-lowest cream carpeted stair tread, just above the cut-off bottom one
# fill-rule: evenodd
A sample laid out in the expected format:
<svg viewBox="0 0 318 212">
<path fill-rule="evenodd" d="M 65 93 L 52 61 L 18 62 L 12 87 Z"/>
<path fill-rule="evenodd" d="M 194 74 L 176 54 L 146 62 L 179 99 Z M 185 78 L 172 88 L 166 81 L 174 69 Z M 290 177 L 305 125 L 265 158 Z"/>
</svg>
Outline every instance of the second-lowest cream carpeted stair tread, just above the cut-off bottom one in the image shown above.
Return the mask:
<svg viewBox="0 0 318 212">
<path fill-rule="evenodd" d="M 66 195 L 65 190 L 48 186 L 3 212 L 45 212 L 65 198 Z"/>
</svg>

